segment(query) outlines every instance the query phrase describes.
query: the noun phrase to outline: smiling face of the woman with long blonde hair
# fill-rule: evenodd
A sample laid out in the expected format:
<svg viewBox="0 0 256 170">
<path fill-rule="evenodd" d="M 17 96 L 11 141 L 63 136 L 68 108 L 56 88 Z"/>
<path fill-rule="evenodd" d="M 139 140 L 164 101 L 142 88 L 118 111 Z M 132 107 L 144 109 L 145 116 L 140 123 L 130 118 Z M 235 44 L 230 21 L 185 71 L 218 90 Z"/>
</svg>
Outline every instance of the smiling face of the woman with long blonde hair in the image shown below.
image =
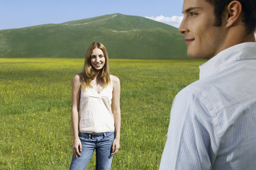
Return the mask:
<svg viewBox="0 0 256 170">
<path fill-rule="evenodd" d="M 91 52 L 91 66 L 96 70 L 100 70 L 104 67 L 106 58 L 104 53 L 99 48 L 94 48 Z"/>
</svg>

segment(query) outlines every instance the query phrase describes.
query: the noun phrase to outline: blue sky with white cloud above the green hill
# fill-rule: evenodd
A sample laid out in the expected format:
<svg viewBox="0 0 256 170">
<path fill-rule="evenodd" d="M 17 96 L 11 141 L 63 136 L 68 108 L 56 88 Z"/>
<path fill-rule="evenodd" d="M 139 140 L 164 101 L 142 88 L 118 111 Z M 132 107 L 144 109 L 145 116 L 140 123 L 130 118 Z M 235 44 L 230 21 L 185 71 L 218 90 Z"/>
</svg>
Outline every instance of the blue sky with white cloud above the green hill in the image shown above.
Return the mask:
<svg viewBox="0 0 256 170">
<path fill-rule="evenodd" d="M 0 30 L 111 13 L 148 17 L 177 27 L 182 3 L 182 0 L 1 0 Z"/>
</svg>

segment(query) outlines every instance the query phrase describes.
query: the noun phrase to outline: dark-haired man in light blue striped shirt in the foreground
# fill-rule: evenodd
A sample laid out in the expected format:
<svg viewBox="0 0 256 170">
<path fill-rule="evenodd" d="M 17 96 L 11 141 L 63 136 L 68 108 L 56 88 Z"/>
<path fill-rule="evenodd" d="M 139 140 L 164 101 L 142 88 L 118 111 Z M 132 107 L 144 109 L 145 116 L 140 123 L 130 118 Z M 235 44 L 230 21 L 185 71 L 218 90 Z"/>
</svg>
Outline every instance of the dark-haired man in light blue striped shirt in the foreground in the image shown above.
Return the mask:
<svg viewBox="0 0 256 170">
<path fill-rule="evenodd" d="M 172 105 L 160 169 L 256 169 L 256 1 L 184 0 L 187 55 L 206 58 Z"/>
</svg>

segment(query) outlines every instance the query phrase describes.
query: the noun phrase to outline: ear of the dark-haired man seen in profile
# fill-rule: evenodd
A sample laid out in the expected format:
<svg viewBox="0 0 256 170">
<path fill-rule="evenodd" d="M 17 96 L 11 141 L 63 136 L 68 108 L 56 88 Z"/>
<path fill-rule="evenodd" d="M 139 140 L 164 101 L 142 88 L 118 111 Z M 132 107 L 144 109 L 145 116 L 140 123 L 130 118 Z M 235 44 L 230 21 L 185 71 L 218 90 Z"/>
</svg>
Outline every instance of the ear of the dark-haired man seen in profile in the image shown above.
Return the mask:
<svg viewBox="0 0 256 170">
<path fill-rule="evenodd" d="M 226 10 L 227 28 L 233 26 L 236 22 L 242 21 L 242 5 L 240 1 L 231 1 Z"/>
</svg>

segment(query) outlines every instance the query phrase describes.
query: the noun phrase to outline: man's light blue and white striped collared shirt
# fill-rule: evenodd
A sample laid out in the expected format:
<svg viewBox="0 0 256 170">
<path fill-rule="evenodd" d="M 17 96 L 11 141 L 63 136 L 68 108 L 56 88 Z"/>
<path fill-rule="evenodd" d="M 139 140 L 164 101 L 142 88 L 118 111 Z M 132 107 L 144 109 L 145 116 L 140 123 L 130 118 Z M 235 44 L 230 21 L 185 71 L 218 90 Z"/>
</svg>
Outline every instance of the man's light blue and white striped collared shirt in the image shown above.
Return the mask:
<svg viewBox="0 0 256 170">
<path fill-rule="evenodd" d="M 223 50 L 177 94 L 160 169 L 256 169 L 256 42 Z"/>
</svg>

